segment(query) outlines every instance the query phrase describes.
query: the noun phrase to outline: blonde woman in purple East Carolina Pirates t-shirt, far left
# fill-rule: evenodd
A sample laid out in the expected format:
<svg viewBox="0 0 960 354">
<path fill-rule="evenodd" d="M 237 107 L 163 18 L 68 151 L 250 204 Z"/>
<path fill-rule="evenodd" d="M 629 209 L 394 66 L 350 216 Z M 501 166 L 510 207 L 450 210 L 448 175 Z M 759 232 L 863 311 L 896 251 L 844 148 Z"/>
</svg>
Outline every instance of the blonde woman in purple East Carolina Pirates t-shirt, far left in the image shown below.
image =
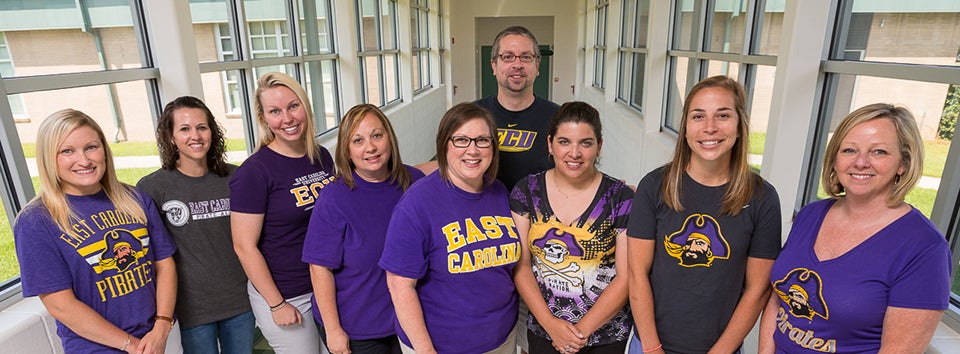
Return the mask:
<svg viewBox="0 0 960 354">
<path fill-rule="evenodd" d="M 176 248 L 150 197 L 117 180 L 97 122 L 73 109 L 47 117 L 37 165 L 40 194 L 17 216 L 14 240 L 23 295 L 39 295 L 64 350 L 179 347 Z"/>
</svg>

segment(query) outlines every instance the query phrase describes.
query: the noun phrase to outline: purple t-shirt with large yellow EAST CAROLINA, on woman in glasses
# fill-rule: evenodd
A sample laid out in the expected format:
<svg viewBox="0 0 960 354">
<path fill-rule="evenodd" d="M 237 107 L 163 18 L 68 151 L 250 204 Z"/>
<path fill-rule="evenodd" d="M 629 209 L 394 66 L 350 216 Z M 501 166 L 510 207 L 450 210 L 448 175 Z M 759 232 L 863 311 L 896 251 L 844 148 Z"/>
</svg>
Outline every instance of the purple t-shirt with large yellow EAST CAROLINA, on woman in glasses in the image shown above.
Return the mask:
<svg viewBox="0 0 960 354">
<path fill-rule="evenodd" d="M 517 321 L 513 267 L 519 258 L 503 183 L 470 193 L 434 172 L 397 203 L 380 267 L 417 279 L 437 352 L 481 353 L 503 344 Z M 411 345 L 399 322 L 396 328 Z"/>
</svg>

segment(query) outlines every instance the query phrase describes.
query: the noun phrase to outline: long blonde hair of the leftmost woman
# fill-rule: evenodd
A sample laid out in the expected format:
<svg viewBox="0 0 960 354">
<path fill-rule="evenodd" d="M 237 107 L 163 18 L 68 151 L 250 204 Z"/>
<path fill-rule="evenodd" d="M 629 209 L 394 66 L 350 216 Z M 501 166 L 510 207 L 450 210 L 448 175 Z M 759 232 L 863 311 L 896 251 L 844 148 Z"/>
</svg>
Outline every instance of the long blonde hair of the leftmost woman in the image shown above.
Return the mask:
<svg viewBox="0 0 960 354">
<path fill-rule="evenodd" d="M 70 203 L 67 202 L 66 193 L 64 193 L 61 184 L 62 180 L 57 174 L 57 154 L 60 145 L 67 139 L 67 136 L 81 127 L 93 129 L 103 144 L 106 169 L 100 179 L 100 186 L 106 192 L 107 197 L 110 198 L 118 211 L 129 215 L 137 222 L 146 224 L 147 215 L 135 196 L 133 187 L 117 180 L 113 165 L 113 152 L 110 151 L 110 146 L 107 144 L 100 125 L 90 116 L 74 109 L 54 112 L 40 124 L 40 130 L 37 132 L 37 167 L 40 173 L 40 193 L 27 204 L 25 209 L 45 207 L 60 231 L 80 240 L 80 236 L 70 227 L 71 222 L 79 218 L 73 208 L 70 207 Z"/>
</svg>

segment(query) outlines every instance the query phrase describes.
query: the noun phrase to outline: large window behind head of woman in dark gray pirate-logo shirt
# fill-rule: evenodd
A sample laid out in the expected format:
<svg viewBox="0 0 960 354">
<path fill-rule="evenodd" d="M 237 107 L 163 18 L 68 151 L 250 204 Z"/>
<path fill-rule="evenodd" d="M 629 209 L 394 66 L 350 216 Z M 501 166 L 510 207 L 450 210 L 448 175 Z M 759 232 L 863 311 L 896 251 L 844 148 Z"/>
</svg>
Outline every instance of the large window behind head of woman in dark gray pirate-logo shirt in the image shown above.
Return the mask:
<svg viewBox="0 0 960 354">
<path fill-rule="evenodd" d="M 763 160 L 777 61 L 776 57 L 765 53 L 775 53 L 778 43 L 769 41 L 779 40 L 771 38 L 770 33 L 764 34 L 761 29 L 776 33 L 783 19 L 783 4 L 779 8 L 768 5 L 760 9 L 758 3 L 765 2 L 674 2 L 670 45 L 673 50 L 668 52 L 670 76 L 666 91 L 667 114 L 663 121 L 665 130 L 679 131 L 684 97 L 698 81 L 715 75 L 736 79 L 747 91 L 749 159 L 757 170 Z M 765 24 L 767 17 L 774 20 Z"/>
</svg>

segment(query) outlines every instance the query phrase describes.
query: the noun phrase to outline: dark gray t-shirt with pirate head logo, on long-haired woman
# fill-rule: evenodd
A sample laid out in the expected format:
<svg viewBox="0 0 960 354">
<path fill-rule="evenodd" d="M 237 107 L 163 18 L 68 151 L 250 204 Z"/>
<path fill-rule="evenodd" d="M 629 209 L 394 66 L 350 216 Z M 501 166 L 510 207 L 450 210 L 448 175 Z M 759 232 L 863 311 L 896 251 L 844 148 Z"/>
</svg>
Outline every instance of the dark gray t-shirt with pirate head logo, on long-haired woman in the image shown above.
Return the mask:
<svg viewBox="0 0 960 354">
<path fill-rule="evenodd" d="M 661 195 L 664 171 L 637 186 L 627 235 L 654 240 L 650 285 L 664 351 L 706 353 L 739 303 L 747 258 L 780 252 L 780 200 L 764 181 L 739 214 L 721 215 L 726 186 L 704 186 L 684 173 L 684 210 L 677 212 Z"/>
</svg>

